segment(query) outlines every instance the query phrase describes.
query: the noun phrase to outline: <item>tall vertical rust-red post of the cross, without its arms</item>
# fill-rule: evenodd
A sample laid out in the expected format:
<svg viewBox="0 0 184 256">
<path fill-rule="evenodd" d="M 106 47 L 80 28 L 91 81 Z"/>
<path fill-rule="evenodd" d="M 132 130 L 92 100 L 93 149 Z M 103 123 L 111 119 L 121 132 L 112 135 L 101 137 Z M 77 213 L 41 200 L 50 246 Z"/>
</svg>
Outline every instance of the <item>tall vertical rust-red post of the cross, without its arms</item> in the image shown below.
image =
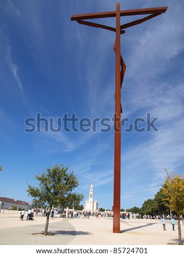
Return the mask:
<svg viewBox="0 0 184 256">
<path fill-rule="evenodd" d="M 120 233 L 120 182 L 121 182 L 121 50 L 120 3 L 116 3 L 115 36 L 115 124 L 114 124 L 114 199 L 113 233 Z"/>
</svg>

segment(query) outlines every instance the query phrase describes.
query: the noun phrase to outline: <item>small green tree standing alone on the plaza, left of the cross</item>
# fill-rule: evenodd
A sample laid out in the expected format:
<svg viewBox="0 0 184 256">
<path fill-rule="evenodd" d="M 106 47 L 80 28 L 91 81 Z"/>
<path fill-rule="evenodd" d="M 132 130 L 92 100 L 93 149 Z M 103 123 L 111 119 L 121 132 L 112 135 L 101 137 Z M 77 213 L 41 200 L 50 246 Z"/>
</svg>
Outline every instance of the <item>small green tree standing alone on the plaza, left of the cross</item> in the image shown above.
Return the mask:
<svg viewBox="0 0 184 256">
<path fill-rule="evenodd" d="M 47 235 L 48 222 L 52 207 L 67 206 L 68 204 L 79 204 L 83 200 L 83 194 L 73 192 L 79 185 L 78 179 L 73 172 L 67 173 L 68 167 L 64 168 L 63 164 L 56 164 L 53 168 L 47 168 L 47 173 L 35 175 L 35 179 L 39 181 L 38 187 L 28 184 L 28 196 L 33 198 L 32 204 L 47 204 L 49 211 L 46 218 L 45 232 Z"/>
</svg>

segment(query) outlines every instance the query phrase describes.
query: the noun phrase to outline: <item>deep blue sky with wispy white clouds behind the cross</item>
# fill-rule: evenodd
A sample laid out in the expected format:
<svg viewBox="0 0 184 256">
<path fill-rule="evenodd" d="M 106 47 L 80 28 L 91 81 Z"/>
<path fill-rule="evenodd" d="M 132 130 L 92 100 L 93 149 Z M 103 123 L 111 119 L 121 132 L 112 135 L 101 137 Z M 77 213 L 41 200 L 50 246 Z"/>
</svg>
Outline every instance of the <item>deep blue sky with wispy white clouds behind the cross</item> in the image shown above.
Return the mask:
<svg viewBox="0 0 184 256">
<path fill-rule="evenodd" d="M 141 207 L 164 182 L 163 167 L 184 169 L 183 1 L 124 0 L 121 10 L 168 6 L 121 35 L 126 73 L 122 118 L 158 118 L 150 131 L 121 133 L 121 208 Z M 73 170 L 77 192 L 112 208 L 114 131 L 25 132 L 27 118 L 113 118 L 115 33 L 79 25 L 75 14 L 113 11 L 112 0 L 2 0 L 0 3 L 0 196 L 29 202 L 27 183 L 54 164 Z M 121 17 L 121 24 L 140 17 Z M 115 19 L 96 21 L 115 26 Z M 63 119 L 62 119 L 63 120 Z M 32 122 L 34 123 L 34 122 Z M 84 122 L 85 123 L 85 122 Z M 63 124 L 63 123 L 62 123 Z M 78 123 L 76 123 L 78 127 Z M 139 127 L 146 127 L 139 123 Z M 71 127 L 71 123 L 68 124 Z M 103 126 L 103 128 L 107 128 Z"/>
</svg>

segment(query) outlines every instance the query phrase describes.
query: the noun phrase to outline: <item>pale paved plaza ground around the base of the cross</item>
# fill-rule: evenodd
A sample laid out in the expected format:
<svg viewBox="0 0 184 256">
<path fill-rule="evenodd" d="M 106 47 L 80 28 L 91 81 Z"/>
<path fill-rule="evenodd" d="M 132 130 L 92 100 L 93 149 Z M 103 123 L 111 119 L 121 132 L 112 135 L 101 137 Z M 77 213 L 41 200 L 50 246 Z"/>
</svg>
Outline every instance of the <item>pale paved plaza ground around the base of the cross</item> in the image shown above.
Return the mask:
<svg viewBox="0 0 184 256">
<path fill-rule="evenodd" d="M 175 231 L 166 221 L 166 231 L 161 220 L 121 220 L 121 233 L 112 233 L 113 218 L 54 218 L 43 236 L 46 217 L 34 216 L 34 221 L 20 221 L 19 211 L 0 214 L 0 245 L 168 245 L 178 240 Z M 181 225 L 184 240 L 184 225 Z"/>
</svg>

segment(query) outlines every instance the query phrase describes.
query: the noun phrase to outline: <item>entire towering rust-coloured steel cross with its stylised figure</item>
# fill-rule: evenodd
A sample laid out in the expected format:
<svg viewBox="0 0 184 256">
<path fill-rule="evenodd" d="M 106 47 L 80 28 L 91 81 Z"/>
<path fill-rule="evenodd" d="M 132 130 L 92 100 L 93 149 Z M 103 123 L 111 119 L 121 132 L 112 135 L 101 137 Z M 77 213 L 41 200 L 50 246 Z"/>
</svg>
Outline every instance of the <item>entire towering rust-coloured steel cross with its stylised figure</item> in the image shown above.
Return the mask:
<svg viewBox="0 0 184 256">
<path fill-rule="evenodd" d="M 82 25 L 95 28 L 103 28 L 115 32 L 115 131 L 114 131 L 114 199 L 113 199 L 113 233 L 120 233 L 120 180 L 121 180 L 121 85 L 125 75 L 126 65 L 121 57 L 120 35 L 125 33 L 125 28 L 138 25 L 144 21 L 148 21 L 167 11 L 168 7 L 136 9 L 136 10 L 120 10 L 120 3 L 116 3 L 116 11 L 108 11 L 105 13 L 90 13 L 81 15 L 72 15 L 71 20 L 77 21 Z M 120 25 L 120 17 L 147 15 L 142 19 Z M 116 27 L 104 26 L 94 22 L 85 20 L 100 18 L 116 18 Z"/>
</svg>

